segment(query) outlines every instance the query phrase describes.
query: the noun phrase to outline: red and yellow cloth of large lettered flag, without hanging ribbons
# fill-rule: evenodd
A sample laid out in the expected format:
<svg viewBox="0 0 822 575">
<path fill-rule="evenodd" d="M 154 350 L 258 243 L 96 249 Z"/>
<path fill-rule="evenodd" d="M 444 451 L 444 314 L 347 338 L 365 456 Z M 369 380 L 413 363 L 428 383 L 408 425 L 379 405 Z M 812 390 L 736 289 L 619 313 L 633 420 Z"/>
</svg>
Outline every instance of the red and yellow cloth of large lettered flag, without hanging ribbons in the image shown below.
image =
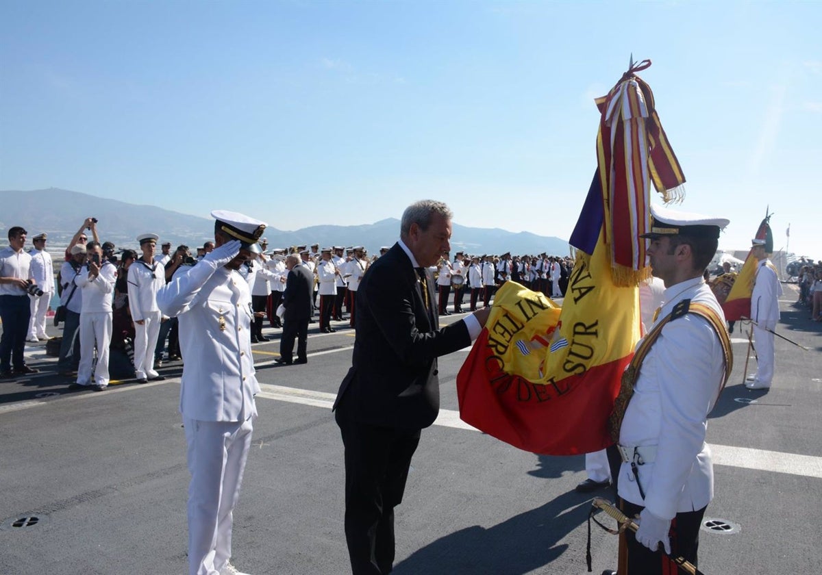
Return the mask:
<svg viewBox="0 0 822 575">
<path fill-rule="evenodd" d="M 463 421 L 533 453 L 613 443 L 607 418 L 641 324 L 638 289 L 612 280 L 601 196 L 594 177 L 572 236 L 579 251 L 562 307 L 506 282 L 457 375 Z"/>
</svg>

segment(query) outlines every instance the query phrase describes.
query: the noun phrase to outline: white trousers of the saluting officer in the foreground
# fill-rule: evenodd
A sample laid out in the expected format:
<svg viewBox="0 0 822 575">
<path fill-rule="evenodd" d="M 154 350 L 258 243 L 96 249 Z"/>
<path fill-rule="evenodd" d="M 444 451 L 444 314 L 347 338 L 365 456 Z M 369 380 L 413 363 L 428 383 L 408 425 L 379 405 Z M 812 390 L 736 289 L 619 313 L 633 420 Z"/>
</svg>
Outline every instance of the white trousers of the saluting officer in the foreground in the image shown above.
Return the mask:
<svg viewBox="0 0 822 575">
<path fill-rule="evenodd" d="M 246 421 L 182 418 L 188 442 L 188 572 L 219 575 L 231 559 L 232 512 L 252 443 Z"/>
</svg>

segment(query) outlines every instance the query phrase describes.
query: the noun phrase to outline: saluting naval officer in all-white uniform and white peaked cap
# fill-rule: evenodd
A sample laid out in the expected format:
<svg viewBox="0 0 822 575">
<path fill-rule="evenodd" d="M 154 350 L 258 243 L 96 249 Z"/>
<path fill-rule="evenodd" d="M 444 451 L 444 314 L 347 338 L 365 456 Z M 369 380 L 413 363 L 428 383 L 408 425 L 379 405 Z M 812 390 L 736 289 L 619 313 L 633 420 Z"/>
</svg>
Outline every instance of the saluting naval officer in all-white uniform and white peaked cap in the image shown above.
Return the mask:
<svg viewBox="0 0 822 575">
<path fill-rule="evenodd" d="M 160 310 L 177 316 L 182 369 L 180 412 L 192 481 L 188 488 L 191 575 L 239 573 L 231 559 L 232 511 L 256 418 L 251 338 L 252 297 L 239 267 L 260 247 L 266 224 L 215 210 L 215 250 L 178 269 L 157 294 Z"/>
</svg>

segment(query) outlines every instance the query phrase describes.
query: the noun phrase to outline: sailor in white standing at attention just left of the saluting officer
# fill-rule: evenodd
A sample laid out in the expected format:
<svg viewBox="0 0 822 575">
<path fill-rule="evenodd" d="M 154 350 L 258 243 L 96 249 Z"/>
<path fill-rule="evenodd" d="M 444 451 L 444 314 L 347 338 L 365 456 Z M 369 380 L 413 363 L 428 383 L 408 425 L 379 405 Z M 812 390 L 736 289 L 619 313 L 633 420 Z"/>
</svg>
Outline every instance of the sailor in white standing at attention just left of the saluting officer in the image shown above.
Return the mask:
<svg viewBox="0 0 822 575">
<path fill-rule="evenodd" d="M 137 382 L 164 380 L 155 370 L 155 347 L 163 314 L 157 306 L 157 292 L 165 285 L 165 266 L 155 259 L 159 236 L 137 236 L 140 258 L 128 268 L 128 308 L 134 321 L 134 371 Z"/>
</svg>

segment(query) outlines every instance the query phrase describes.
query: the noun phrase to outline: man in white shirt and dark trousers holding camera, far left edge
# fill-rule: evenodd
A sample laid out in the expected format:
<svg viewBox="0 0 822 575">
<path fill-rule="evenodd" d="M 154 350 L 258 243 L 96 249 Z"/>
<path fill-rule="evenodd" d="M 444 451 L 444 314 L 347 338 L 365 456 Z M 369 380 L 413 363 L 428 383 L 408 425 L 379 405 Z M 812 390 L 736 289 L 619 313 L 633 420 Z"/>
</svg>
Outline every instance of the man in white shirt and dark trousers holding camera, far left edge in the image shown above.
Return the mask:
<svg viewBox="0 0 822 575">
<path fill-rule="evenodd" d="M 0 379 L 38 372 L 25 365 L 23 356 L 31 318 L 28 294 L 37 289 L 31 276 L 31 256 L 23 251 L 27 233 L 20 226 L 9 228 L 9 245 L 0 250 Z"/>
</svg>

